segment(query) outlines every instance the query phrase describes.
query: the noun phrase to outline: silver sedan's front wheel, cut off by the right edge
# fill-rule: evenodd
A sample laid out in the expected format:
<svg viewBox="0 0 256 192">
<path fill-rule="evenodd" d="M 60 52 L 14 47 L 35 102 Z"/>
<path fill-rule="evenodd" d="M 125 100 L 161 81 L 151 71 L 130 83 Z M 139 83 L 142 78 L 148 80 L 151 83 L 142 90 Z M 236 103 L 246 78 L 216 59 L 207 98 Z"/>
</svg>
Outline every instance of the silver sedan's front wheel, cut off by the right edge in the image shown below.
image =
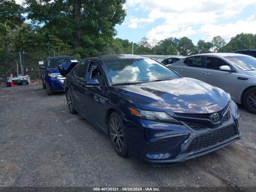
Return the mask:
<svg viewBox="0 0 256 192">
<path fill-rule="evenodd" d="M 249 112 L 256 114 L 256 87 L 250 88 L 245 92 L 243 104 Z"/>
</svg>

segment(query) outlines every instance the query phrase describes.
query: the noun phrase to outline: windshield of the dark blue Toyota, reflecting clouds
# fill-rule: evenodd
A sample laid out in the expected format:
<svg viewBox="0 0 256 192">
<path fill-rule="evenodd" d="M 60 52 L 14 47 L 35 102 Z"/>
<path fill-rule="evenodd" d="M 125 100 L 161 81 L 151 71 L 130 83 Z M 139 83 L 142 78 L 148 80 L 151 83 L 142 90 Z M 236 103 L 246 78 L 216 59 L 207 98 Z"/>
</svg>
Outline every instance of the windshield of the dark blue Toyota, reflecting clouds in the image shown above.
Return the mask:
<svg viewBox="0 0 256 192">
<path fill-rule="evenodd" d="M 105 66 L 112 85 L 180 78 L 172 70 L 149 58 L 107 61 Z"/>
</svg>

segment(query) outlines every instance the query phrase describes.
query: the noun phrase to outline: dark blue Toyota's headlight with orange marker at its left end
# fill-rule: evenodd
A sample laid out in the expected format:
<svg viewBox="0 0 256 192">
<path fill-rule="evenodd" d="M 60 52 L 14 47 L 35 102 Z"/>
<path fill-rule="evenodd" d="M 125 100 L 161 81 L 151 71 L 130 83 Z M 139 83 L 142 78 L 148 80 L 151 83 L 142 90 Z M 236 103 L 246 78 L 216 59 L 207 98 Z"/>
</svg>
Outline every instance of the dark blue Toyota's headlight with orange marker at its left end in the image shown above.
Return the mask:
<svg viewBox="0 0 256 192">
<path fill-rule="evenodd" d="M 160 121 L 160 122 L 168 122 L 173 124 L 181 124 L 178 120 L 174 119 L 172 116 L 168 115 L 165 112 L 158 111 L 146 111 L 140 109 L 134 109 L 129 107 L 131 114 L 148 120 Z"/>
</svg>

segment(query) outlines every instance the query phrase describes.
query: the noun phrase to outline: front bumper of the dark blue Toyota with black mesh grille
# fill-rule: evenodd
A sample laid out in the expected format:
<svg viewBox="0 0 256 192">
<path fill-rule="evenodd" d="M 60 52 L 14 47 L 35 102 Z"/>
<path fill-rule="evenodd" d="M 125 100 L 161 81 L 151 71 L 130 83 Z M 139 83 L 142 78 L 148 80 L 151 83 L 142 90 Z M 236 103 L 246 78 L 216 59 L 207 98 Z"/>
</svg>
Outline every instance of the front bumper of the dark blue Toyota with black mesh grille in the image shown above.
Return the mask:
<svg viewBox="0 0 256 192">
<path fill-rule="evenodd" d="M 228 106 L 218 124 L 200 129 L 188 124 L 186 118 L 183 119 L 185 122 L 181 121 L 183 125 L 140 120 L 140 126 L 136 126 L 139 134 L 134 134 L 133 126 L 127 128 L 128 137 L 132 134 L 129 155 L 138 158 L 140 162 L 159 166 L 184 162 L 218 150 L 242 136 L 238 125 L 240 116 L 236 111 L 236 104 Z M 229 114 L 228 118 L 226 114 Z M 143 131 L 146 133 L 143 134 Z"/>
</svg>

